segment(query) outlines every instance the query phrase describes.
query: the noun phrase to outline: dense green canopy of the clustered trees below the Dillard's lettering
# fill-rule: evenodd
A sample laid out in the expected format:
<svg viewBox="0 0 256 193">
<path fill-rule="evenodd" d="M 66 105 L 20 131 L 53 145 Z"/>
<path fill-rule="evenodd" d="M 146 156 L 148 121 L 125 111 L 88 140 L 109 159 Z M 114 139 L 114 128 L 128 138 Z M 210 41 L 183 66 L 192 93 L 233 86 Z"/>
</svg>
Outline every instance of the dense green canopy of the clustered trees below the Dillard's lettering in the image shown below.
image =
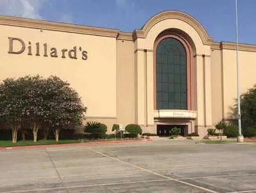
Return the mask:
<svg viewBox="0 0 256 193">
<path fill-rule="evenodd" d="M 0 122 L 5 127 L 53 130 L 80 127 L 86 107 L 67 82 L 56 76 L 26 76 L 0 83 Z M 59 132 L 58 132 L 59 133 Z"/>
</svg>

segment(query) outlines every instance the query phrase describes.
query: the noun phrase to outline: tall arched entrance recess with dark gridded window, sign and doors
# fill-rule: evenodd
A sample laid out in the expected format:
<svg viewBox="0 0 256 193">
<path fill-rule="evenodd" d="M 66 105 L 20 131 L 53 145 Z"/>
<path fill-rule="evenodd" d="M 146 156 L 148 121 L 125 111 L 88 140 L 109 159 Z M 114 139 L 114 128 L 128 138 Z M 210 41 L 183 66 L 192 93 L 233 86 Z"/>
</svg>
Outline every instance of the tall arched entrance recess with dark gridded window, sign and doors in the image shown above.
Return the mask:
<svg viewBox="0 0 256 193">
<path fill-rule="evenodd" d="M 154 109 L 157 134 L 179 127 L 186 136 L 195 125 L 195 66 L 186 36 L 167 30 L 154 46 Z M 167 131 L 167 133 L 166 133 Z M 167 135 L 168 135 L 167 134 Z"/>
</svg>

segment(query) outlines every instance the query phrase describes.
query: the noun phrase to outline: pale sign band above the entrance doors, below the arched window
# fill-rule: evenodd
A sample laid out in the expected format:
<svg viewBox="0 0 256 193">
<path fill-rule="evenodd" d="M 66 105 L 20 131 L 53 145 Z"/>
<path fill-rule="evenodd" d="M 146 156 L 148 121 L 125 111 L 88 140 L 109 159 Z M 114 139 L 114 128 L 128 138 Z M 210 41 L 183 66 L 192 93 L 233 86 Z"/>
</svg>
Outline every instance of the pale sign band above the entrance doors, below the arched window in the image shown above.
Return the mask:
<svg viewBox="0 0 256 193">
<path fill-rule="evenodd" d="M 188 118 L 188 119 L 195 119 L 196 118 L 196 111 L 156 110 L 154 112 L 154 118 Z"/>
</svg>

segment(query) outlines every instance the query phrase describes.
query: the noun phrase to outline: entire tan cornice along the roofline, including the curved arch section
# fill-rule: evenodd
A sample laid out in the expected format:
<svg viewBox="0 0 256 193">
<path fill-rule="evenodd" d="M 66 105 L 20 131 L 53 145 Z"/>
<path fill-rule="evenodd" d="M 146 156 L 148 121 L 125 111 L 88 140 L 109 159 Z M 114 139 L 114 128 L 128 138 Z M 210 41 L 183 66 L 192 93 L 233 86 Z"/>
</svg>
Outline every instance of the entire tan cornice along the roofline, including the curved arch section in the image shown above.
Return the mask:
<svg viewBox="0 0 256 193">
<path fill-rule="evenodd" d="M 150 29 L 165 19 L 179 19 L 187 22 L 190 26 L 194 27 L 198 32 L 205 45 L 211 45 L 212 50 L 236 50 L 236 43 L 234 42 L 213 42 L 212 38 L 209 38 L 204 27 L 193 17 L 182 12 L 163 12 L 155 15 L 150 19 L 145 26 L 140 30 L 135 30 L 133 33 L 120 32 L 117 29 L 108 29 L 103 27 L 90 27 L 79 26 L 75 24 L 65 24 L 60 22 L 49 22 L 44 20 L 24 19 L 19 17 L 10 17 L 0 15 L 0 25 L 4 26 L 16 26 L 16 27 L 28 27 L 32 29 L 44 29 L 51 31 L 61 31 L 67 33 L 78 33 L 83 35 L 93 36 L 106 36 L 116 38 L 117 40 L 135 41 L 137 38 L 146 38 Z M 256 52 L 256 45 L 249 45 L 239 43 L 239 50 Z"/>
</svg>

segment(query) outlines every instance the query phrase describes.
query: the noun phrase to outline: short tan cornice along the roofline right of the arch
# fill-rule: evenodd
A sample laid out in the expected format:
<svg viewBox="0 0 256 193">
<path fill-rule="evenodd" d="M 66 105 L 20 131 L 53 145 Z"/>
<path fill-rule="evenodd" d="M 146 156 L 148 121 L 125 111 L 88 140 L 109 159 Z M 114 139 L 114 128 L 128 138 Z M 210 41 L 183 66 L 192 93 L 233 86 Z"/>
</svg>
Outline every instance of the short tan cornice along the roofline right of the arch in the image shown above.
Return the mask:
<svg viewBox="0 0 256 193">
<path fill-rule="evenodd" d="M 214 42 L 211 45 L 212 50 L 236 50 L 235 42 Z M 256 45 L 250 45 L 245 43 L 239 43 L 238 49 L 246 52 L 256 52 Z"/>
</svg>

